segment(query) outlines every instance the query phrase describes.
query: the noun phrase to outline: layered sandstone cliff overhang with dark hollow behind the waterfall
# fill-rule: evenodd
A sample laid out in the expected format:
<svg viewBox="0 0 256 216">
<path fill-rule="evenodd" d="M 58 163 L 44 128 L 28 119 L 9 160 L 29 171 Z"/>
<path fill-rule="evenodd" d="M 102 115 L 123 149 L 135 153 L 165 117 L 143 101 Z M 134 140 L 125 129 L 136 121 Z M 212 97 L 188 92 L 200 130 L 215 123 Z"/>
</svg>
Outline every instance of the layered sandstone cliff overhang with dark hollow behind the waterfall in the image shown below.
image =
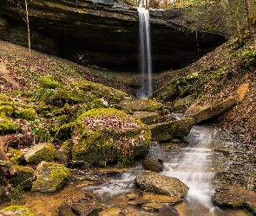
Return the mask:
<svg viewBox="0 0 256 216">
<path fill-rule="evenodd" d="M 26 46 L 23 3 L 0 3 L 0 39 Z M 29 15 L 32 48 L 82 64 L 138 70 L 135 7 L 117 0 L 36 0 L 29 1 Z M 226 41 L 222 35 L 198 33 L 198 51 L 195 33 L 183 31 L 178 9 L 150 10 L 150 22 L 154 72 L 184 67 Z"/>
</svg>

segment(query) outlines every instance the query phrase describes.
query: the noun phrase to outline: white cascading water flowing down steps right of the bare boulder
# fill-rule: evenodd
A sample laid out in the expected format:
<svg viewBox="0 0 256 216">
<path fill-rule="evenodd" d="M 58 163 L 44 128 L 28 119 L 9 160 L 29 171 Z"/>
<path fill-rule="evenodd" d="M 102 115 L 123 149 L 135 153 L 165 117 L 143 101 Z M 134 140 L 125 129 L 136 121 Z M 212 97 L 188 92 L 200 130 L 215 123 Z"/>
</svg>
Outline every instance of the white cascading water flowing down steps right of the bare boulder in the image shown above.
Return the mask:
<svg viewBox="0 0 256 216">
<path fill-rule="evenodd" d="M 213 177 L 211 170 L 212 149 L 208 145 L 213 141 L 216 130 L 203 130 L 194 126 L 187 141 L 189 146 L 174 157 L 172 162 L 165 163 L 162 175 L 176 177 L 189 187 L 186 201 L 190 208 L 189 215 L 226 215 L 215 207 L 211 201 L 214 193 Z"/>
</svg>

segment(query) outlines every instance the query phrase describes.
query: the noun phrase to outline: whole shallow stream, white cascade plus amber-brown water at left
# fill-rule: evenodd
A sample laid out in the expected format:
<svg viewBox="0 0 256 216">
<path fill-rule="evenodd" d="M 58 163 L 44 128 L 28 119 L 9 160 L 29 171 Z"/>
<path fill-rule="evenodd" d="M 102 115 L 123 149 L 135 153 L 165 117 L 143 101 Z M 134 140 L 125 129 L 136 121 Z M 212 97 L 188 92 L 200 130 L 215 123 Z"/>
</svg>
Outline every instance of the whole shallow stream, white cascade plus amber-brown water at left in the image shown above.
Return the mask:
<svg viewBox="0 0 256 216">
<path fill-rule="evenodd" d="M 239 208 L 220 208 L 211 201 L 215 188 L 220 187 L 216 184 L 215 175 L 222 171 L 221 162 L 225 161 L 223 155 L 214 150 L 225 145 L 218 140 L 217 134 L 215 128 L 196 125 L 181 143 L 154 143 L 147 155 L 163 161 L 161 175 L 176 177 L 190 188 L 184 201 L 174 206 L 181 216 L 246 216 Z M 0 208 L 24 205 L 31 207 L 36 215 L 57 216 L 58 206 L 63 201 L 70 204 L 79 202 L 84 199 L 84 193 L 93 192 L 98 203 L 123 209 L 120 215 L 158 215 L 143 210 L 141 206 L 128 204 L 127 194 L 136 190 L 135 177 L 152 174 L 141 167 L 142 160 L 136 160 L 132 168 L 74 168 L 69 184 L 60 193 L 24 192 L 22 199 L 4 203 Z"/>
</svg>

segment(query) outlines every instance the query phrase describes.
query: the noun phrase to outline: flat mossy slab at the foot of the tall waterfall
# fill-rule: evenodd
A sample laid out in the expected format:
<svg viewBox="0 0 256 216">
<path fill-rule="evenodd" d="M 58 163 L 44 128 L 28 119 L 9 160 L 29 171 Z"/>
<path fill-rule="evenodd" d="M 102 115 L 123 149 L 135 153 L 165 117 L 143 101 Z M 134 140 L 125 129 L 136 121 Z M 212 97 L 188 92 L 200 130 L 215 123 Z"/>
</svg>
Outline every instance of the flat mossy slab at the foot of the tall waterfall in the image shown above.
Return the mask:
<svg viewBox="0 0 256 216">
<path fill-rule="evenodd" d="M 121 100 L 116 108 L 123 111 L 159 111 L 162 107 L 160 102 L 155 99 L 124 99 Z"/>
</svg>

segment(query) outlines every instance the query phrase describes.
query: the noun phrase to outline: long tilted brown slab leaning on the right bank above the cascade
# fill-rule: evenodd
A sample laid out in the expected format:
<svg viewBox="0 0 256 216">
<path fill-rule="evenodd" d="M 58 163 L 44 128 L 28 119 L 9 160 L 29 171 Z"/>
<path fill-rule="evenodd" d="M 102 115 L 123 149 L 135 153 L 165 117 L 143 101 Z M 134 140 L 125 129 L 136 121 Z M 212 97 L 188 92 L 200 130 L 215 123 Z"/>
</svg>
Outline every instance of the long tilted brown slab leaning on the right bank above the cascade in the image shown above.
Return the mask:
<svg viewBox="0 0 256 216">
<path fill-rule="evenodd" d="M 198 124 L 204 120 L 209 118 L 213 118 L 214 116 L 220 114 L 222 111 L 226 111 L 231 106 L 235 105 L 237 100 L 230 96 L 225 100 L 222 100 L 218 103 L 201 106 L 201 105 L 191 105 L 187 111 L 185 111 L 184 116 L 194 118 L 194 124 Z"/>
</svg>

